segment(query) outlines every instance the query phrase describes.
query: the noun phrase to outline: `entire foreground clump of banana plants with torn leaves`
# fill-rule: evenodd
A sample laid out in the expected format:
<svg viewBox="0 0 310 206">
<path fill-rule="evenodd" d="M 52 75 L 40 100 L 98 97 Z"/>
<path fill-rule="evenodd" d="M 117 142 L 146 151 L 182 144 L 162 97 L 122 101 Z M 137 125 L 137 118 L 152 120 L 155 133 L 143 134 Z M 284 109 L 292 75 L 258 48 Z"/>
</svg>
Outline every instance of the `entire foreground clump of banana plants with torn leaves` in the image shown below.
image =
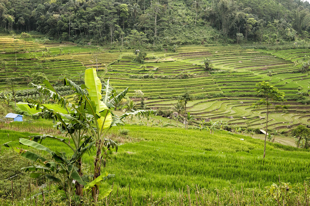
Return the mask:
<svg viewBox="0 0 310 206">
<path fill-rule="evenodd" d="M 82 155 L 93 145 L 96 145 L 97 153 L 95 159 L 94 175 L 92 177 L 93 181 L 97 182 L 102 177 L 100 176 L 100 159 L 103 148 L 106 148 L 104 149 L 104 154 L 107 150 L 111 150 L 112 148 L 115 148 L 117 150 L 116 143 L 111 139 L 105 138 L 107 131 L 112 126 L 122 124 L 122 119 L 126 118 L 129 115 L 146 117 L 148 115 L 154 114 L 154 111 L 132 110 L 131 112 L 123 114 L 121 117 L 115 116 L 113 113 L 111 113 L 110 108 L 113 108 L 113 104 L 116 104 L 126 95 L 128 88 L 120 94 L 117 94 L 116 90 L 114 90 L 109 85 L 109 81 L 104 84 L 104 87 L 102 87 L 100 79 L 97 77 L 94 68 L 86 69 L 85 85 L 82 85 L 82 87 L 73 83 L 68 78 L 64 78 L 64 85 L 70 86 L 72 90 L 75 91 L 76 95 L 79 96 L 80 101 L 77 105 L 70 103 L 63 96 L 60 96 L 60 94 L 56 92 L 55 88 L 51 85 L 50 82 L 48 82 L 48 80 L 44 80 L 43 83 L 46 87 L 35 85 L 33 83 L 31 84 L 37 90 L 37 92 L 48 96 L 49 98 L 53 99 L 57 104 L 64 107 L 66 112 L 60 113 L 58 111 L 48 108 L 47 106 L 41 104 L 39 101 L 31 99 L 28 100 L 29 106 L 36 108 L 36 110 L 41 110 L 41 112 L 37 113 L 36 115 L 42 116 L 46 119 L 53 119 L 53 121 L 55 122 L 54 127 L 57 127 L 57 129 L 66 136 L 69 135 L 69 137 L 71 137 L 71 141 L 73 142 L 74 147 L 70 146 L 70 144 L 67 143 L 64 139 L 59 139 L 46 135 L 28 137 L 28 139 L 30 140 L 20 139 L 21 144 L 32 146 L 36 149 L 44 150 L 50 153 L 50 155 L 52 155 L 52 158 L 55 160 L 55 163 L 52 164 L 35 153 L 31 153 L 23 149 L 18 149 L 18 152 L 21 156 L 28 158 L 34 162 L 40 160 L 39 163 L 43 163 L 42 166 L 27 167 L 27 170 L 43 170 L 44 172 L 55 174 L 57 175 L 57 177 L 53 176 L 52 178 L 58 178 L 59 181 L 57 180 L 56 182 L 59 182 L 61 187 L 60 189 L 68 191 L 70 197 L 73 197 L 74 191 L 76 191 L 76 194 L 78 196 L 81 196 L 82 186 L 85 185 L 84 181 L 88 179 L 88 176 L 87 178 L 83 178 L 82 176 Z M 112 117 L 112 115 L 114 117 Z M 37 141 L 39 140 L 42 142 L 42 140 L 44 140 L 45 138 L 52 138 L 64 143 L 74 152 L 73 156 L 67 158 L 65 153 L 60 153 L 58 151 L 52 152 L 47 147 L 44 147 L 41 144 L 37 143 Z M 84 140 L 84 142 L 82 142 L 82 140 Z M 7 146 L 7 143 L 5 145 Z M 55 168 L 62 169 L 58 171 L 55 170 Z M 60 175 L 63 176 L 60 177 Z M 76 180 L 75 183 L 73 183 L 73 179 Z M 99 184 L 95 183 L 94 186 L 90 187 L 92 188 L 91 196 L 93 198 L 96 198 L 97 191 L 99 191 Z"/>
</svg>

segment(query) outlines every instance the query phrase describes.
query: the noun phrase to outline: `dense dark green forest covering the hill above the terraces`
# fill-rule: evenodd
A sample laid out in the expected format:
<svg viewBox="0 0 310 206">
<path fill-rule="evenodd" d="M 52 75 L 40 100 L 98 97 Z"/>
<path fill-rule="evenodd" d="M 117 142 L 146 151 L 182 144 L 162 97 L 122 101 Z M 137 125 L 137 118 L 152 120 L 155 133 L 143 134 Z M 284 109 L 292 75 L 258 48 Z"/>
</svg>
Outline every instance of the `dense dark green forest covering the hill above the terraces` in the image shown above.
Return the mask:
<svg viewBox="0 0 310 206">
<path fill-rule="evenodd" d="M 76 43 L 184 45 L 308 38 L 300 0 L 0 0 L 4 31 Z"/>
</svg>

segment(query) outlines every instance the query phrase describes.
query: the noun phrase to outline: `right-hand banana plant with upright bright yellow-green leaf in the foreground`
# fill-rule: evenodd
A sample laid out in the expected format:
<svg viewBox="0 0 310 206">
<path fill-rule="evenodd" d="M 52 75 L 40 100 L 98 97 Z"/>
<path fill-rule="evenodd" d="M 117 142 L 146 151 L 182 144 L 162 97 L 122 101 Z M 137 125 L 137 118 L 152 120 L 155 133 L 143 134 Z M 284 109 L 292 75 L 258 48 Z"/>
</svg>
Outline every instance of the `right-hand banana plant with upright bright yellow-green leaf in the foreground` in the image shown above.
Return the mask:
<svg viewBox="0 0 310 206">
<path fill-rule="evenodd" d="M 86 90 L 88 92 L 88 98 L 90 99 L 91 103 L 89 103 L 86 99 L 85 104 L 86 108 L 89 107 L 90 110 L 86 110 L 89 115 L 94 117 L 95 127 L 89 131 L 92 134 L 93 139 L 96 141 L 96 157 L 95 157 L 95 168 L 94 168 L 94 179 L 100 176 L 101 170 L 101 161 L 102 158 L 105 157 L 107 150 L 111 145 L 106 140 L 107 132 L 113 126 L 117 126 L 119 124 L 123 124 L 122 121 L 128 116 L 136 116 L 138 118 L 148 117 L 151 114 L 155 114 L 154 110 L 131 110 L 126 112 L 122 116 L 118 117 L 117 115 L 113 114 L 112 108 L 122 100 L 122 98 L 126 95 L 128 91 L 128 87 L 121 92 L 120 94 L 116 93 L 116 90 L 110 86 L 109 80 L 107 83 L 104 84 L 104 88 L 102 88 L 102 84 L 100 79 L 97 77 L 95 68 L 86 69 L 85 71 L 85 85 Z M 93 104 L 93 102 L 95 104 Z M 104 146 L 106 149 L 103 149 Z M 102 154 L 102 151 L 104 153 Z M 105 164 L 105 158 L 104 158 Z M 92 188 L 92 196 L 95 196 L 99 192 L 98 186 Z"/>
</svg>

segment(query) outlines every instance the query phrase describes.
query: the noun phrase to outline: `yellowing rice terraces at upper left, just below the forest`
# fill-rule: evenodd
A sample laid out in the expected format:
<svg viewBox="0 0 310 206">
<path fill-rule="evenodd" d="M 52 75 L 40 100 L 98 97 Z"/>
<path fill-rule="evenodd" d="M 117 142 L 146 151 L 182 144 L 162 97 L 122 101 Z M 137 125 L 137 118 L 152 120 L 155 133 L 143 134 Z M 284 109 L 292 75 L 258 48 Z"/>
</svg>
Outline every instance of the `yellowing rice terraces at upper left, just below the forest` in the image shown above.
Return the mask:
<svg viewBox="0 0 310 206">
<path fill-rule="evenodd" d="M 96 65 L 100 73 L 105 73 L 105 65 L 115 61 L 120 54 L 98 53 L 97 50 L 95 47 L 84 48 L 57 42 L 39 44 L 29 41 L 25 44 L 23 40 L 2 35 L 0 36 L 0 57 L 7 64 L 6 68 L 0 68 L 0 89 L 4 89 L 7 77 L 16 78 L 22 85 L 21 88 L 26 88 L 24 75 L 35 72 L 43 72 L 54 82 L 64 71 L 67 71 L 72 78 L 78 78 L 78 72 Z M 94 55 L 97 56 L 97 63 Z"/>
</svg>

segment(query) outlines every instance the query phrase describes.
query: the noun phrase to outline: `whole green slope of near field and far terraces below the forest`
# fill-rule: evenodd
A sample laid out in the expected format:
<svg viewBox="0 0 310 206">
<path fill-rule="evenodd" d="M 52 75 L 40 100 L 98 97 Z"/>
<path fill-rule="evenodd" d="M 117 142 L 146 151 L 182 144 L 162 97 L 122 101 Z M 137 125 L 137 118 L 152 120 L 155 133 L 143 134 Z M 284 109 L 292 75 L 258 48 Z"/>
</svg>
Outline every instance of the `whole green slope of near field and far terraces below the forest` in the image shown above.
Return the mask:
<svg viewBox="0 0 310 206">
<path fill-rule="evenodd" d="M 71 129 L 66 133 L 63 129 L 83 122 L 80 118 L 76 119 L 78 115 L 74 112 L 71 113 L 73 116 L 68 116 L 74 111 L 72 108 L 68 110 L 61 104 L 55 105 L 58 97 L 39 95 L 27 84 L 42 84 L 42 80 L 47 78 L 53 89 L 64 96 L 61 98 L 78 104 L 82 102 L 76 101 L 74 95 L 78 93 L 73 94 L 71 87 L 64 86 L 62 79 L 68 77 L 81 84 L 82 89 L 86 84 L 85 69 L 92 67 L 95 69 L 88 70 L 94 72 L 98 67 L 100 81 L 106 83 L 109 80 L 110 86 L 118 91 L 114 95 L 130 87 L 129 98 L 122 97 L 112 109 L 115 115 L 122 116 L 125 111 L 130 111 L 127 107 L 130 103 L 136 109 L 156 109 L 161 115 L 142 119 L 128 117 L 125 119 L 127 125 L 113 127 L 104 134 L 104 138 L 115 141 L 118 149 L 116 152 L 115 148 L 103 147 L 100 171 L 115 176 L 106 176 L 106 181 L 100 183 L 101 193 L 98 195 L 111 196 L 98 199 L 97 204 L 245 206 L 260 202 L 271 206 L 279 204 L 279 200 L 272 197 L 273 188 L 284 191 L 281 195 L 286 198 L 284 202 L 287 205 L 307 202 L 307 198 L 303 197 L 307 197 L 305 188 L 309 185 L 308 144 L 302 143 L 305 148 L 297 148 L 295 138 L 279 134 L 290 136 L 297 125 L 308 125 L 309 71 L 300 70 L 308 60 L 308 44 L 300 41 L 275 45 L 208 44 L 166 47 L 160 51 L 141 47 L 136 51 L 95 45 L 78 46 L 70 42 L 46 40 L 38 33 L 32 35 L 31 39 L 25 40 L 20 35 L 0 35 L 0 101 L 3 104 L 0 114 L 4 116 L 14 112 L 24 115 L 24 122 L 0 121 L 1 145 L 25 136 L 44 134 L 30 138 L 33 140 L 30 142 L 42 138 L 42 142 L 39 141 L 42 145 L 37 145 L 36 149 L 17 141 L 10 142 L 9 148 L 1 146 L 0 175 L 3 178 L 0 181 L 0 200 L 3 204 L 59 206 L 81 203 L 77 195 L 68 197 L 62 187 L 56 187 L 59 181 L 51 179 L 53 172 L 48 172 L 47 168 L 31 171 L 31 177 L 38 178 L 30 180 L 30 172 L 20 168 L 39 163 L 44 164 L 43 167 L 51 165 L 49 161 L 54 159 L 51 155 L 60 154 L 58 152 L 66 155 L 66 164 L 70 162 L 68 158 L 75 154 L 72 148 L 76 146 L 73 139 L 77 133 L 72 133 Z M 205 68 L 205 58 L 213 62 L 212 69 Z M 285 92 L 287 102 L 284 104 L 290 105 L 287 110 L 280 111 L 275 110 L 275 105 L 271 107 L 268 132 L 272 137 L 267 141 L 265 158 L 261 141 L 265 136 L 259 134 L 259 129 L 265 129 L 266 119 L 263 117 L 266 113 L 263 108 L 254 109 L 252 105 L 260 99 L 255 92 L 256 83 L 263 80 Z M 104 87 L 101 86 L 101 89 Z M 141 90 L 143 96 L 137 95 L 135 90 Z M 193 115 L 188 130 L 184 129 L 184 122 L 180 120 L 184 117 L 184 108 L 180 109 L 179 116 L 172 113 L 179 96 L 185 91 L 194 97 L 187 103 L 186 111 Z M 106 92 L 102 91 L 102 94 Z M 42 106 L 51 113 L 64 115 L 66 123 L 63 127 L 61 123 L 53 126 L 55 123 L 48 118 L 32 116 L 42 109 L 30 109 L 23 103 L 17 103 L 15 107 L 14 95 L 16 101 L 26 102 L 29 97 L 43 102 Z M 89 112 L 86 107 L 82 108 Z M 54 120 L 60 121 L 59 116 Z M 91 121 L 94 126 L 95 119 Z M 212 122 L 217 124 L 212 126 Z M 73 129 L 76 128 L 73 126 Z M 52 135 L 54 139 L 45 135 Z M 86 143 L 81 147 L 95 143 L 87 142 L 87 136 L 83 137 Z M 56 138 L 60 139 L 56 141 Z M 23 154 L 25 150 L 41 156 L 33 162 L 29 158 L 36 155 L 28 156 L 28 160 L 22 159 L 27 157 Z M 70 183 L 76 185 L 77 177 L 83 177 L 85 181 L 93 178 L 96 155 L 95 146 L 90 147 L 83 155 L 81 164 L 72 167 L 74 171 L 80 167 L 82 174 L 75 176 Z M 55 164 L 57 161 L 60 159 L 56 159 Z M 64 169 L 59 165 L 57 171 Z M 71 185 L 66 181 L 72 177 L 65 177 L 65 186 Z M 86 190 L 83 192 L 87 194 Z M 30 200 L 31 195 L 34 199 Z M 75 199 L 71 199 L 70 203 L 71 197 Z M 82 205 L 93 204 L 93 200 L 86 196 L 82 201 L 85 201 Z"/>
</svg>

